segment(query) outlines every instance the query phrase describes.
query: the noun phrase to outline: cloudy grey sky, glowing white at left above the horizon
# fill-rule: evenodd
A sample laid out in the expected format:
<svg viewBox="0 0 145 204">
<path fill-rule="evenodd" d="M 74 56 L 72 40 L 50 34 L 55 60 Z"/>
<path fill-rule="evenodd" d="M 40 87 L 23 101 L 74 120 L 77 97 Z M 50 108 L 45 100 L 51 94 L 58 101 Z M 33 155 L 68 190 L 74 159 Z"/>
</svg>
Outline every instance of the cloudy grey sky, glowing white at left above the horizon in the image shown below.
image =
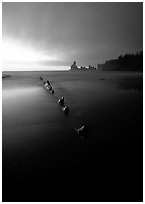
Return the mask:
<svg viewBox="0 0 145 204">
<path fill-rule="evenodd" d="M 3 2 L 3 70 L 67 70 L 143 50 L 141 2 Z"/>
</svg>

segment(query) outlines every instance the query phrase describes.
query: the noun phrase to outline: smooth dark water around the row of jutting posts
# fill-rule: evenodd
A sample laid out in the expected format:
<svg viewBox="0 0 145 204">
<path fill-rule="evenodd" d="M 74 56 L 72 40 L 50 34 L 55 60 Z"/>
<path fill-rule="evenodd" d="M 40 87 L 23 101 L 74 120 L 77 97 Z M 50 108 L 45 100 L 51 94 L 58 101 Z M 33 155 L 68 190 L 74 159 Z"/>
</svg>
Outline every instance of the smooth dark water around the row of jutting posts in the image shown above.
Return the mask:
<svg viewBox="0 0 145 204">
<path fill-rule="evenodd" d="M 3 201 L 142 201 L 142 74 L 6 74 Z M 57 104 L 61 96 L 68 116 Z M 83 124 L 84 143 L 74 131 Z"/>
</svg>

